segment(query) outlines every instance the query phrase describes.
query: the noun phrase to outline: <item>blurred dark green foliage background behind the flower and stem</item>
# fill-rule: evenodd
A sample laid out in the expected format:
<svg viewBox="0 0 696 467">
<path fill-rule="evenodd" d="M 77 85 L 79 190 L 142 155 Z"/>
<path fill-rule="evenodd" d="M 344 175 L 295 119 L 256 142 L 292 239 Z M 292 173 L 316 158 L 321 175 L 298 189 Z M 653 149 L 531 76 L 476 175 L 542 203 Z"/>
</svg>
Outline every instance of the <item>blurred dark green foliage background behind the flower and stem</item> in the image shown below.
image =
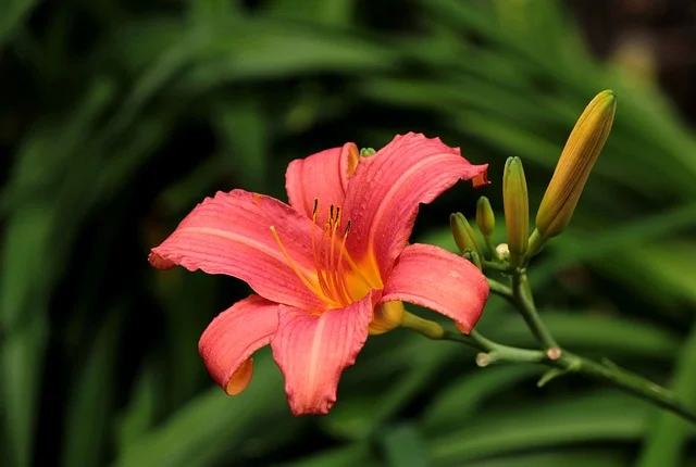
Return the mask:
<svg viewBox="0 0 696 467">
<path fill-rule="evenodd" d="M 414 240 L 452 249 L 448 214 L 481 194 L 499 211 L 509 155 L 535 212 L 611 88 L 613 132 L 534 264 L 537 302 L 563 345 L 696 405 L 694 75 L 656 80 L 694 42 L 613 40 L 646 4 L 696 24 L 688 1 L 1 0 L 0 465 L 696 465 L 694 429 L 646 403 L 574 377 L 537 389 L 542 368 L 477 368 L 399 330 L 369 339 L 328 416 L 290 415 L 265 352 L 227 397 L 197 342 L 249 290 L 146 261 L 217 189 L 284 199 L 290 160 L 408 130 L 490 163 L 493 185 L 421 210 Z M 533 344 L 496 299 L 477 329 Z"/>
</svg>

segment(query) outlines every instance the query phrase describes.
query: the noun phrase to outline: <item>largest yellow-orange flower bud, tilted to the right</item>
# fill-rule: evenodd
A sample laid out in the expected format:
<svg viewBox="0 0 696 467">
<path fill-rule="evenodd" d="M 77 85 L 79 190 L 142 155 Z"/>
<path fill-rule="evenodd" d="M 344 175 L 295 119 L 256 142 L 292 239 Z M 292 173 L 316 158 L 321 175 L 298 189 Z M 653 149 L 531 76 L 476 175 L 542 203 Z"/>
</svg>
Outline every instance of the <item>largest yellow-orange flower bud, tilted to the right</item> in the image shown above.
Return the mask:
<svg viewBox="0 0 696 467">
<path fill-rule="evenodd" d="M 607 141 L 616 109 L 613 91 L 601 91 L 577 119 L 536 214 L 542 241 L 559 235 L 570 222 L 589 171 Z"/>
</svg>

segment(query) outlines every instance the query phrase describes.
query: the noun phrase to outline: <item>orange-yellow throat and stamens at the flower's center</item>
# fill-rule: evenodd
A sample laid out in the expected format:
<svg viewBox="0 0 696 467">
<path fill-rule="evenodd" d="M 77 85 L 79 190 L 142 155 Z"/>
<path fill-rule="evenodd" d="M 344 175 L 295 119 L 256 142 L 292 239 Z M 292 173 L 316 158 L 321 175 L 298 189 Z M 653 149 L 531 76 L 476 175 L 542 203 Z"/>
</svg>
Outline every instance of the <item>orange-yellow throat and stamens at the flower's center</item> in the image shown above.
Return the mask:
<svg viewBox="0 0 696 467">
<path fill-rule="evenodd" d="M 340 206 L 331 205 L 326 222 L 318 232 L 319 200 L 314 200 L 312 213 L 312 256 L 314 272 L 304 274 L 293 261 L 283 245 L 275 227 L 271 232 L 281 248 L 285 261 L 304 286 L 319 299 L 326 303 L 327 308 L 341 308 L 368 294 L 372 289 L 382 289 L 378 274 L 371 274 L 361 268 L 346 250 L 346 239 L 350 234 L 350 219 L 343 225 Z M 376 276 L 376 277 L 375 277 Z"/>
</svg>

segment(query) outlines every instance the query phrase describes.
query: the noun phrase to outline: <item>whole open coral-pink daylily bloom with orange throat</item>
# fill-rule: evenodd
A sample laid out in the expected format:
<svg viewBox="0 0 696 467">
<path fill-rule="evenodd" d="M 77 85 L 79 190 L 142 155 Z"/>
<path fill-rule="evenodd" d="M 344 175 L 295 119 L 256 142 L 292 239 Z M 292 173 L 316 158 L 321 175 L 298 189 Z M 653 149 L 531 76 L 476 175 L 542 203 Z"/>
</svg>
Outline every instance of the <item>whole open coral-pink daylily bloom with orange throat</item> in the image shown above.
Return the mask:
<svg viewBox="0 0 696 467">
<path fill-rule="evenodd" d="M 486 168 L 423 135 L 397 136 L 366 157 L 346 143 L 289 164 L 289 205 L 244 190 L 217 192 L 149 261 L 234 276 L 254 290 L 213 319 L 199 342 L 228 394 L 247 387 L 253 352 L 270 344 L 293 413 L 326 414 L 368 336 L 401 324 L 401 301 L 439 312 L 464 332 L 478 320 L 488 298 L 481 272 L 408 240 L 419 203 L 460 179 L 485 184 Z"/>
</svg>

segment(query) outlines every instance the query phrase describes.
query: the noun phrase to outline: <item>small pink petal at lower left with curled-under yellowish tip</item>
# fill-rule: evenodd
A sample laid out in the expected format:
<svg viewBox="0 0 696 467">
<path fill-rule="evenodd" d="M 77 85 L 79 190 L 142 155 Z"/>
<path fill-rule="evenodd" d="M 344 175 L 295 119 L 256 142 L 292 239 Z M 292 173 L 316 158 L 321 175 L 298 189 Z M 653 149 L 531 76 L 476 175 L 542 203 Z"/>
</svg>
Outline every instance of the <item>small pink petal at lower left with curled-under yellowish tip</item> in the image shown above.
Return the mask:
<svg viewBox="0 0 696 467">
<path fill-rule="evenodd" d="M 278 306 L 249 295 L 217 315 L 200 337 L 198 352 L 227 394 L 239 394 L 249 384 L 251 354 L 271 342 L 278 327 Z"/>
</svg>

